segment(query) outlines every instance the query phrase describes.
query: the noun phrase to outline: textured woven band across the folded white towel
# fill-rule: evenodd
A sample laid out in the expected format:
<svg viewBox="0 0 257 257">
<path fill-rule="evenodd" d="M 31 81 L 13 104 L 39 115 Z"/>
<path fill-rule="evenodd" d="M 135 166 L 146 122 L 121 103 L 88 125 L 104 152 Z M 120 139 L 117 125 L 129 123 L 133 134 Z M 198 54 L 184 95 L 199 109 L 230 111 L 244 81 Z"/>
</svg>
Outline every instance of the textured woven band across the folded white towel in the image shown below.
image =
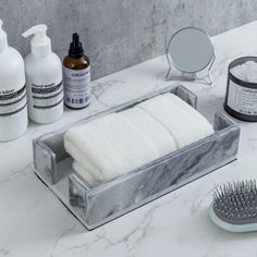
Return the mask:
<svg viewBox="0 0 257 257">
<path fill-rule="evenodd" d="M 152 142 L 158 150 L 159 157 L 178 149 L 174 137 L 148 112 L 134 107 L 120 112 L 120 114 L 133 123 Z"/>
</svg>

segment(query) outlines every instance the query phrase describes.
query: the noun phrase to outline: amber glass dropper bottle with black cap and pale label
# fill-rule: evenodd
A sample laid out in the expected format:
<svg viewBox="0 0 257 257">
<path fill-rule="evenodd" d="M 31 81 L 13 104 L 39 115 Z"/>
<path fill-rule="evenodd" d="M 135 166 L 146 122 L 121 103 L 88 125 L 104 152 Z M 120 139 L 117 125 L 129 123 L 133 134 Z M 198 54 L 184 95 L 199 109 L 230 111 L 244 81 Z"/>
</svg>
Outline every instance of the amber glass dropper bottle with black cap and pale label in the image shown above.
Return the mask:
<svg viewBox="0 0 257 257">
<path fill-rule="evenodd" d="M 90 102 L 90 61 L 84 53 L 79 35 L 73 34 L 69 56 L 63 60 L 64 103 L 83 109 Z"/>
</svg>

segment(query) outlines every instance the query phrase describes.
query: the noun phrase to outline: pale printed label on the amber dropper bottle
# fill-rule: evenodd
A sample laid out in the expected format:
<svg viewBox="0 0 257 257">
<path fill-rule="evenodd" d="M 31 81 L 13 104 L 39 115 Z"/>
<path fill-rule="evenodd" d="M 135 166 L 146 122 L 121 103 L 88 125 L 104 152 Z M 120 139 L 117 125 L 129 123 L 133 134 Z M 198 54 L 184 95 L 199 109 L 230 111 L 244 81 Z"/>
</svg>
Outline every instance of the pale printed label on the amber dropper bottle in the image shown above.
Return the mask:
<svg viewBox="0 0 257 257">
<path fill-rule="evenodd" d="M 90 101 L 90 66 L 83 70 L 63 68 L 64 100 L 72 108 L 86 107 Z"/>
</svg>

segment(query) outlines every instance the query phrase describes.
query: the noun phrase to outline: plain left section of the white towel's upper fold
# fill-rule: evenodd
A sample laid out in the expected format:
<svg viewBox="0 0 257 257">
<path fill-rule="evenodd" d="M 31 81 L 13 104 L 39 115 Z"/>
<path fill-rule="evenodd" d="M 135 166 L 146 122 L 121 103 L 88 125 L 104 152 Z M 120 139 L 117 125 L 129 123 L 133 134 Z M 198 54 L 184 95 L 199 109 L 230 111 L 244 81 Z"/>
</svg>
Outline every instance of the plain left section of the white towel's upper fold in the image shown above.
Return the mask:
<svg viewBox="0 0 257 257">
<path fill-rule="evenodd" d="M 64 147 L 79 167 L 101 182 L 159 157 L 152 142 L 119 113 L 69 130 Z"/>
</svg>

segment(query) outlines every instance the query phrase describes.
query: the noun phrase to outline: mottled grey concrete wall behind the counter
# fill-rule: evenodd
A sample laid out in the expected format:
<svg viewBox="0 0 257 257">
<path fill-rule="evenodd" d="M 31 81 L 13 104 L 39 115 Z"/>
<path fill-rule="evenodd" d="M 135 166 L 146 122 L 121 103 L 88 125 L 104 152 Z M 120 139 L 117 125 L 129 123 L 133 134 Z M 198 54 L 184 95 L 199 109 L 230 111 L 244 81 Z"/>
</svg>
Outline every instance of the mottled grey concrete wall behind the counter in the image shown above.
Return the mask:
<svg viewBox="0 0 257 257">
<path fill-rule="evenodd" d="M 194 25 L 215 35 L 257 19 L 256 0 L 0 0 L 10 45 L 28 52 L 20 35 L 38 23 L 49 26 L 53 50 L 63 57 L 71 34 L 82 35 L 93 77 L 164 52 L 167 37 Z"/>
</svg>

